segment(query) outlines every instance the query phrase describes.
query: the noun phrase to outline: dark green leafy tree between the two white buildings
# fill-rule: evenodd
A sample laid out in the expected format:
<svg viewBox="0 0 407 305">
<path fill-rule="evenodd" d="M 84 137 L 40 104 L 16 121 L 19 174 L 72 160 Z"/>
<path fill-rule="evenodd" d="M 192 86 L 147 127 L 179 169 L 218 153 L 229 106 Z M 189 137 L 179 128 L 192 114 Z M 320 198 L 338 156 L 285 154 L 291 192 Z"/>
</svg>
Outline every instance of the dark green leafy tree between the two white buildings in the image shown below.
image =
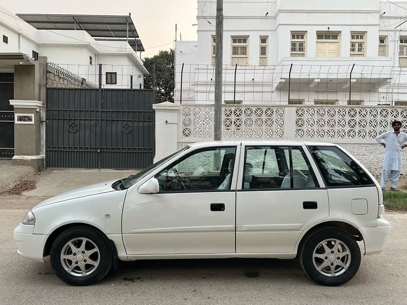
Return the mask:
<svg viewBox="0 0 407 305">
<path fill-rule="evenodd" d="M 160 51 L 153 57 L 144 58 L 144 67 L 149 75 L 144 76 L 144 88 L 153 88 L 153 74 L 156 74 L 157 102 L 174 102 L 174 50 Z"/>
</svg>

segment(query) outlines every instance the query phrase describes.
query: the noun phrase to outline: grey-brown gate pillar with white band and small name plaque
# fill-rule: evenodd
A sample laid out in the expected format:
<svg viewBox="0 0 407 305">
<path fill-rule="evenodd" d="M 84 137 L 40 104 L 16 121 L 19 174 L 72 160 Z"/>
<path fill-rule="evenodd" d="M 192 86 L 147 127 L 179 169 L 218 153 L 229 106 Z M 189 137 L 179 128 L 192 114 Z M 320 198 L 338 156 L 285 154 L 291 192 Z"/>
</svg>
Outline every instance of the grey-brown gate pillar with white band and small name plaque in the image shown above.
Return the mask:
<svg viewBox="0 0 407 305">
<path fill-rule="evenodd" d="M 46 57 L 41 62 L 14 66 L 14 157 L 15 165 L 44 167 Z"/>
</svg>

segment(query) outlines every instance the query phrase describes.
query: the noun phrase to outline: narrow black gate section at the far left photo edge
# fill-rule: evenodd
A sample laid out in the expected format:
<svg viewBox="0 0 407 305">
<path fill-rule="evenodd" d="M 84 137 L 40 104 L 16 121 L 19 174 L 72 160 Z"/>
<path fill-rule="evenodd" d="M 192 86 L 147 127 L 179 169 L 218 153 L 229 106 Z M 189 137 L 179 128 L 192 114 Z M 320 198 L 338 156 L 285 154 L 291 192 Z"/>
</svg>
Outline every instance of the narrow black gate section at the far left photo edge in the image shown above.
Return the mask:
<svg viewBox="0 0 407 305">
<path fill-rule="evenodd" d="M 0 159 L 14 156 L 14 98 L 13 73 L 0 73 Z"/>
</svg>

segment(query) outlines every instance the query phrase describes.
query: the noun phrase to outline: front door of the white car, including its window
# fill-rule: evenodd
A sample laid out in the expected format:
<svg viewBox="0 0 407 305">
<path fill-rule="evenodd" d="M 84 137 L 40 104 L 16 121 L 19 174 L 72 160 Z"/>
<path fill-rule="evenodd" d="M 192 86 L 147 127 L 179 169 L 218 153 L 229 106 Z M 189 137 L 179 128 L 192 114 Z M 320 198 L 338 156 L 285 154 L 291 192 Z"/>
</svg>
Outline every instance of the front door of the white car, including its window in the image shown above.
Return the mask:
<svg viewBox="0 0 407 305">
<path fill-rule="evenodd" d="M 127 254 L 234 253 L 238 155 L 236 145 L 198 149 L 155 174 L 159 193 L 129 189 Z"/>
</svg>

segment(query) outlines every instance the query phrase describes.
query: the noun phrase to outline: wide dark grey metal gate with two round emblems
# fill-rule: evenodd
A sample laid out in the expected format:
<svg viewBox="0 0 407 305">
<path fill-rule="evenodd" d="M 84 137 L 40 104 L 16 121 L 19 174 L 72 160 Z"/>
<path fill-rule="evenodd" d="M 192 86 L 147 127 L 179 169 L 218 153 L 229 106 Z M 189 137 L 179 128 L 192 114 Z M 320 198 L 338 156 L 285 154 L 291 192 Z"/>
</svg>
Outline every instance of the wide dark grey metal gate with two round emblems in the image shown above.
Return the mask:
<svg viewBox="0 0 407 305">
<path fill-rule="evenodd" d="M 48 88 L 46 166 L 150 166 L 155 150 L 153 102 L 152 89 Z"/>
</svg>

